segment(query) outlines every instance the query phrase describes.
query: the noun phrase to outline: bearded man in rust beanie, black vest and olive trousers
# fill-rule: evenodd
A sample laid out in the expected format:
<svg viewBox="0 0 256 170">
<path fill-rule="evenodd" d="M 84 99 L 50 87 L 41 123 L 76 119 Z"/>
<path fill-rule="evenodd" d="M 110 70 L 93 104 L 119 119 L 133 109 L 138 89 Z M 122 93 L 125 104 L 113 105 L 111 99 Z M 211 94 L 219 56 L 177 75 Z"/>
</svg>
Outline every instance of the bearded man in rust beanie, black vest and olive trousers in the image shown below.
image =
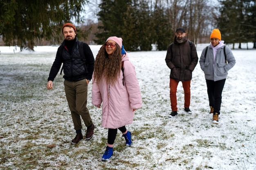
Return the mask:
<svg viewBox="0 0 256 170">
<path fill-rule="evenodd" d="M 56 53 L 47 88 L 52 89 L 54 78 L 63 63 L 65 93 L 76 130 L 76 137 L 71 143 L 76 144 L 83 139 L 81 117 L 87 127 L 85 139 L 91 139 L 94 132 L 94 124 L 86 107 L 88 84 L 94 70 L 94 57 L 88 44 L 82 43 L 81 47 L 79 46 L 76 27 L 73 24 L 64 24 L 62 33 L 65 40 Z"/>
</svg>

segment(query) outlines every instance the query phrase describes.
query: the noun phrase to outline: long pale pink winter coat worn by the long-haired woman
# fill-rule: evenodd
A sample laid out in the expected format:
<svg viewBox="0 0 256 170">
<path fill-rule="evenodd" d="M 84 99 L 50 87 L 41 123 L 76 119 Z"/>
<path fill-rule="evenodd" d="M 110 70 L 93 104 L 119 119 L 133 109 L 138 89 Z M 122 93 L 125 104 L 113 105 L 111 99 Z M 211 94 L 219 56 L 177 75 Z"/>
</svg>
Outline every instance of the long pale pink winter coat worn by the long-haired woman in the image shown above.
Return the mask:
<svg viewBox="0 0 256 170">
<path fill-rule="evenodd" d="M 97 79 L 94 80 L 92 75 L 92 104 L 99 107 L 102 103 L 101 126 L 105 128 L 115 129 L 131 124 L 134 116 L 132 110 L 142 106 L 135 67 L 130 63 L 127 54 L 122 55 L 122 61 L 124 61 L 124 85 L 121 70 L 115 85 L 106 84 L 104 79 L 97 84 Z"/>
</svg>

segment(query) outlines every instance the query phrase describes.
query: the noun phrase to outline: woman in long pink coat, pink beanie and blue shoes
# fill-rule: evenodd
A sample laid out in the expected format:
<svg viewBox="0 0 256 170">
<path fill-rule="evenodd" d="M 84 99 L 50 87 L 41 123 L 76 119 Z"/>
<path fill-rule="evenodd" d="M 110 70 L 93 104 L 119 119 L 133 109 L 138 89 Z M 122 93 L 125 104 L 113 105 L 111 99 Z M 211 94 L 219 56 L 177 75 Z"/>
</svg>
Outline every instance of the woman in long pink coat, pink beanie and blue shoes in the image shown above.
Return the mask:
<svg viewBox="0 0 256 170">
<path fill-rule="evenodd" d="M 117 129 L 122 132 L 126 146 L 131 146 L 131 132 L 125 125 L 132 123 L 134 111 L 142 106 L 135 67 L 122 41 L 118 37 L 106 40 L 97 54 L 92 75 L 92 104 L 100 108 L 102 103 L 101 126 L 108 128 L 108 144 L 102 161 L 109 160 L 113 154 Z"/>
</svg>

